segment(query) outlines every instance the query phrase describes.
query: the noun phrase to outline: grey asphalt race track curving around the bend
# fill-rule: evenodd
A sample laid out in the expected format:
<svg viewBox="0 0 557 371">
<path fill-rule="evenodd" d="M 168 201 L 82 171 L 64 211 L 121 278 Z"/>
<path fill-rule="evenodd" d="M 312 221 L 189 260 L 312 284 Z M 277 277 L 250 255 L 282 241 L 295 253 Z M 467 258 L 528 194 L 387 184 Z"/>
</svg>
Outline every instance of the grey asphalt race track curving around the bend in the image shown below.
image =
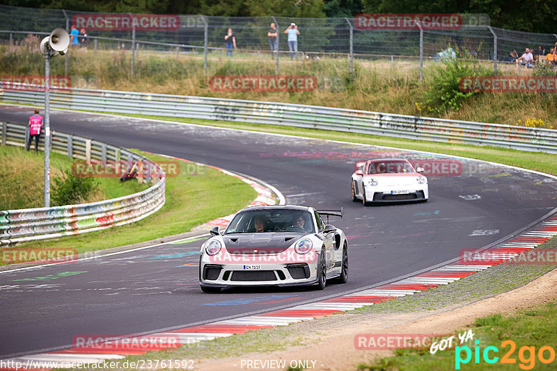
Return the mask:
<svg viewBox="0 0 557 371">
<path fill-rule="evenodd" d="M 26 124 L 30 114 L 30 108 L 0 106 L 1 121 Z M 254 176 L 278 188 L 288 204 L 343 207 L 344 218 L 331 222 L 349 238 L 350 279 L 324 291 L 257 288 L 204 294 L 198 286 L 201 240 L 0 272 L 1 358 L 71 345 L 78 335 L 145 333 L 340 295 L 443 263 L 462 249 L 489 245 L 557 206 L 554 179 L 459 160 L 461 174 L 429 177 L 427 203 L 364 207 L 350 199 L 356 160 L 447 158 L 61 110 L 52 111 L 51 123 L 54 131 Z"/>
</svg>

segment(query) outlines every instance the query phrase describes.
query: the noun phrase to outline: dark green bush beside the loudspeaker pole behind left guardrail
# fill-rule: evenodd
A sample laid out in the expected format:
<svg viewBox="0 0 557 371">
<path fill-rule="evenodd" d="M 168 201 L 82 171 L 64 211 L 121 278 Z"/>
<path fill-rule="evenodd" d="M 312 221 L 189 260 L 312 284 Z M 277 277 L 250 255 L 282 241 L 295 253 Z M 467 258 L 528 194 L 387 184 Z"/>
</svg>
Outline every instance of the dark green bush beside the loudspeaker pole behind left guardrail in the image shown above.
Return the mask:
<svg viewBox="0 0 557 371">
<path fill-rule="evenodd" d="M 70 169 L 53 181 L 52 200 L 58 206 L 80 204 L 100 188 L 99 183 L 93 178 L 75 176 Z"/>
</svg>

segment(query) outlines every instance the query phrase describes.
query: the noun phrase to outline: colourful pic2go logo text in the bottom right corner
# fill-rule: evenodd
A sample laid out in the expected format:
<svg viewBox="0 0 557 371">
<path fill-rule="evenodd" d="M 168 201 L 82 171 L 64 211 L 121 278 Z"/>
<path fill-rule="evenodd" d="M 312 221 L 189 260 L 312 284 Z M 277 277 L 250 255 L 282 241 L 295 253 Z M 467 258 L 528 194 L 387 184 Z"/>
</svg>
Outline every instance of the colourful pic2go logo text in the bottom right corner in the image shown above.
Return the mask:
<svg viewBox="0 0 557 371">
<path fill-rule="evenodd" d="M 485 347 L 483 351 L 480 350 L 480 340 L 475 340 L 476 346 L 472 352 L 470 347 L 464 345 L 463 347 L 455 347 L 455 370 L 460 370 L 461 364 L 469 363 L 472 360 L 472 353 L 474 357 L 474 363 L 480 363 L 480 355 L 485 363 L 493 364 L 499 361 L 499 357 L 495 354 L 499 353 L 499 349 L 494 346 Z M 501 343 L 501 348 L 510 347 L 508 352 L 501 357 L 501 364 L 517 363 L 517 359 L 512 356 L 517 349 L 517 345 L 512 340 L 505 340 Z M 535 366 L 536 355 L 541 363 L 548 364 L 555 361 L 555 349 L 549 346 L 540 347 L 538 349 L 538 354 L 535 352 L 535 347 L 524 346 L 518 351 L 518 358 L 521 363 L 519 363 L 519 368 L 522 370 L 532 370 Z M 464 356 L 464 358 L 463 358 Z"/>
</svg>

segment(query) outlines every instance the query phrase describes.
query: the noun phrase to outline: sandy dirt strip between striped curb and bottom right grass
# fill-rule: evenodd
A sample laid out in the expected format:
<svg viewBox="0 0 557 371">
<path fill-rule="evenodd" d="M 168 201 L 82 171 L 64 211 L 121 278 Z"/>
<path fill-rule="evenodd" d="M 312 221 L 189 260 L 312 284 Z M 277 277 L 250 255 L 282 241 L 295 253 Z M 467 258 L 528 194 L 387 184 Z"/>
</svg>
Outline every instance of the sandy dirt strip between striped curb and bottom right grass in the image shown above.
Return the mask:
<svg viewBox="0 0 557 371">
<path fill-rule="evenodd" d="M 356 365 L 375 357 L 392 354 L 390 350 L 359 350 L 354 347 L 354 337 L 359 333 L 455 333 L 479 317 L 494 313 L 515 313 L 518 309 L 544 304 L 557 298 L 557 270 L 553 270 L 531 283 L 479 302 L 443 308 L 437 311 L 393 314 L 344 314 L 322 320 L 302 322 L 298 333 L 305 333 L 311 345 L 290 347 L 271 354 L 244 354 L 235 358 L 201 360 L 198 370 L 272 370 L 276 363 L 308 360 L 308 369 L 356 370 Z M 306 330 L 304 332 L 304 329 Z M 317 333 L 317 329 L 322 329 Z M 251 366 L 249 361 L 251 361 Z M 255 363 L 257 361 L 257 363 Z M 313 364 L 315 361 L 315 364 Z M 265 367 L 264 365 L 267 365 Z M 270 366 L 270 367 L 269 367 Z"/>
</svg>

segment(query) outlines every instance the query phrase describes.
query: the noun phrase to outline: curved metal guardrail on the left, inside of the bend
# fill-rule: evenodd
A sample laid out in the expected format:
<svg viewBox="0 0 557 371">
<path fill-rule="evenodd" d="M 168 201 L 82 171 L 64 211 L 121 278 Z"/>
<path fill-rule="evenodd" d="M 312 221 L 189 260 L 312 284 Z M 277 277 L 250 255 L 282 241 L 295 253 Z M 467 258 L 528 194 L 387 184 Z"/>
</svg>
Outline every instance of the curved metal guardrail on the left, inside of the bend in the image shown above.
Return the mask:
<svg viewBox="0 0 557 371">
<path fill-rule="evenodd" d="M 0 129 L 2 145 L 25 145 L 25 126 L 0 122 Z M 44 142 L 41 141 L 40 145 L 44 147 Z M 90 204 L 0 211 L 0 245 L 15 245 L 19 242 L 58 238 L 130 224 L 155 213 L 164 205 L 164 172 L 148 158 L 127 149 L 57 131 L 52 131 L 52 151 L 68 154 L 71 158 L 103 162 L 143 161 L 155 166 L 157 174 L 141 179 L 150 183 L 150 188 L 117 199 Z"/>
</svg>

